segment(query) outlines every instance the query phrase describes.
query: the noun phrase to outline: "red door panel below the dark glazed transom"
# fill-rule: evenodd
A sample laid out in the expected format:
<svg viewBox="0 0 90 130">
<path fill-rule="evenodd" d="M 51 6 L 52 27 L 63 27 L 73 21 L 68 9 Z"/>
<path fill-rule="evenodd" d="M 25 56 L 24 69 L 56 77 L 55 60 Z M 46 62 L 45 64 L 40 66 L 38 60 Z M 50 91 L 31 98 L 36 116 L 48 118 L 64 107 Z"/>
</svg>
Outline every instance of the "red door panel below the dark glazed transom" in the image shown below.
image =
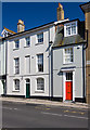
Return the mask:
<svg viewBox="0 0 90 130">
<path fill-rule="evenodd" d="M 66 100 L 73 100 L 73 81 L 66 81 Z"/>
</svg>

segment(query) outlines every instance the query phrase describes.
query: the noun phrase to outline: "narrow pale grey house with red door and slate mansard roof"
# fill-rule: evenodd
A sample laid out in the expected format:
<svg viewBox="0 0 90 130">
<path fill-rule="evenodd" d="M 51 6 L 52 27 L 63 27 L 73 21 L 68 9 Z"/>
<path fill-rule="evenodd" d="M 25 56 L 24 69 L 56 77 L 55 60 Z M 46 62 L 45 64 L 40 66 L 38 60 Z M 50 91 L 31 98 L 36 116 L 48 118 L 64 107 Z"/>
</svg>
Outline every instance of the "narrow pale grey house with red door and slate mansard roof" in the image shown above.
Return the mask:
<svg viewBox="0 0 90 130">
<path fill-rule="evenodd" d="M 52 47 L 52 95 L 62 101 L 86 102 L 85 22 L 63 22 L 56 28 Z"/>
</svg>

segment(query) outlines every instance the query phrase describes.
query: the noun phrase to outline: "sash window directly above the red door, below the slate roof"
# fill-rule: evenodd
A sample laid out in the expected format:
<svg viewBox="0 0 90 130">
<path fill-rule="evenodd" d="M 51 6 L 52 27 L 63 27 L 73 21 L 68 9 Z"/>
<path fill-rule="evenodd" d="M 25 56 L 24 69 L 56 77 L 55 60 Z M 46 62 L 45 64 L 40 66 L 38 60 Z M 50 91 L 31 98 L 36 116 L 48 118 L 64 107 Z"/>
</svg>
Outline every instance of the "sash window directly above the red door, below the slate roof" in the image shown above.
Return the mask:
<svg viewBox="0 0 90 130">
<path fill-rule="evenodd" d="M 73 48 L 64 49 L 64 63 L 72 63 L 73 60 Z"/>
</svg>

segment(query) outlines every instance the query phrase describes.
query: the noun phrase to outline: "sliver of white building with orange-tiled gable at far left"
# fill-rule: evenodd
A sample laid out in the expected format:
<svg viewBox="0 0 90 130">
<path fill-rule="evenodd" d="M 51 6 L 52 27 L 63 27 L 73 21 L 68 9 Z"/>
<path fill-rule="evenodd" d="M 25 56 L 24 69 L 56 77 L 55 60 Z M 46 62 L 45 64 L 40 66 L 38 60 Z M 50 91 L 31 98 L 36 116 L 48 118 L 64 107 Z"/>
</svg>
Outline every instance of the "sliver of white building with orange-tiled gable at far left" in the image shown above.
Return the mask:
<svg viewBox="0 0 90 130">
<path fill-rule="evenodd" d="M 5 37 L 15 34 L 14 31 L 4 27 L 2 36 L 0 37 L 0 94 L 7 94 L 7 40 Z"/>
</svg>

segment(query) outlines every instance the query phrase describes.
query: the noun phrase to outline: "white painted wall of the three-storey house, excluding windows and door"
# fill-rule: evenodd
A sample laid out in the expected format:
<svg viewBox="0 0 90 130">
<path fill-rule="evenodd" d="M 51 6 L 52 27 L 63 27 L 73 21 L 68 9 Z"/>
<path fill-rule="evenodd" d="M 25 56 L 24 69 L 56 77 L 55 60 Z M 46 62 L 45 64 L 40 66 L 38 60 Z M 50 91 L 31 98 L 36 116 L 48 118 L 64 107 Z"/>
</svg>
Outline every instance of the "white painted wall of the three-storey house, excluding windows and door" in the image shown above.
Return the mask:
<svg viewBox="0 0 90 130">
<path fill-rule="evenodd" d="M 37 44 L 37 34 L 43 32 L 43 43 Z M 25 37 L 30 36 L 30 47 L 25 48 Z M 55 28 L 53 25 L 39 28 L 33 32 L 22 35 L 8 40 L 8 77 L 7 77 L 7 94 L 26 95 L 25 79 L 30 79 L 31 96 L 49 96 L 49 41 L 54 41 Z M 14 49 L 14 40 L 20 39 L 20 49 Z M 43 53 L 43 73 L 38 73 L 36 67 L 37 54 Z M 30 73 L 25 70 L 25 56 L 30 56 Z M 20 57 L 20 75 L 14 75 L 14 58 Z M 44 92 L 36 91 L 37 78 L 44 79 Z M 20 91 L 13 91 L 13 80 L 20 79 Z"/>
</svg>

